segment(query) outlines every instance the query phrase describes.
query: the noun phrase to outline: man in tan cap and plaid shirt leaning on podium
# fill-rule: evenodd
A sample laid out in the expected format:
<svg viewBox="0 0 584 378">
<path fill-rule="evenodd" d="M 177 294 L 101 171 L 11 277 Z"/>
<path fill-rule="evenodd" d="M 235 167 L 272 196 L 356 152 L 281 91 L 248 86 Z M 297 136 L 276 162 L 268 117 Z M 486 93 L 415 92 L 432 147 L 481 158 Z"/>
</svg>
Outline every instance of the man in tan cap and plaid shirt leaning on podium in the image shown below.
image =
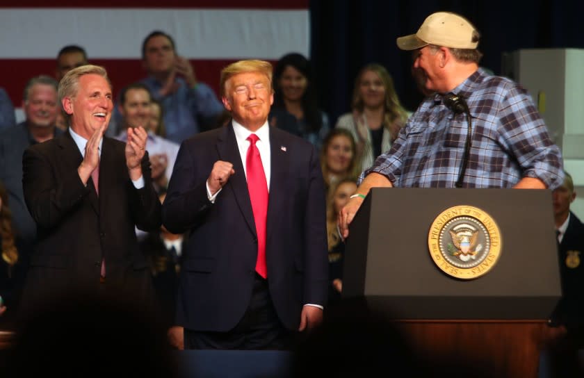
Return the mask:
<svg viewBox="0 0 584 378">
<path fill-rule="evenodd" d="M 426 97 L 387 153 L 363 172 L 339 214 L 348 224 L 374 187 L 549 188 L 562 185 L 562 156 L 533 100 L 509 79 L 479 68 L 480 35 L 464 17 L 433 13 L 397 39 L 425 76 Z"/>
</svg>

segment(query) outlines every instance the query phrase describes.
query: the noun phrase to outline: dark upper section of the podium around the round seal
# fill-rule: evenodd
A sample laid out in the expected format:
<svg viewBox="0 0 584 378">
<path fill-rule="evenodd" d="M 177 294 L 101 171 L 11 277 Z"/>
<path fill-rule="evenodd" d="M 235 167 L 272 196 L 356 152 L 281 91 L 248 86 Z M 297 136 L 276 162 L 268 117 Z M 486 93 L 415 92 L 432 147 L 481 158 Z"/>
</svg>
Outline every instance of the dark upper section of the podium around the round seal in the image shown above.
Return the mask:
<svg viewBox="0 0 584 378">
<path fill-rule="evenodd" d="M 453 206 L 488 213 L 501 232 L 494 267 L 457 279 L 428 234 Z M 561 295 L 550 190 L 373 188 L 350 225 L 343 296 L 412 319 L 546 319 Z"/>
</svg>

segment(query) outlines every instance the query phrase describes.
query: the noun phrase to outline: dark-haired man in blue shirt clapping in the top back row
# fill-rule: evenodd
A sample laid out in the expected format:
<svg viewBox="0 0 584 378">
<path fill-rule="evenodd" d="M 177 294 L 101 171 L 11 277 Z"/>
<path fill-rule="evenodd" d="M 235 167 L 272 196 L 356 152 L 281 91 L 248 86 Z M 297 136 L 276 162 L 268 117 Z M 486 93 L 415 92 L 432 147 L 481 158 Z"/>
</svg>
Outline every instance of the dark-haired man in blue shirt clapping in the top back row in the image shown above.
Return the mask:
<svg viewBox="0 0 584 378">
<path fill-rule="evenodd" d="M 142 44 L 142 62 L 152 96 L 164 106 L 165 138 L 180 144 L 211 128 L 223 107 L 208 85 L 197 80 L 190 62 L 177 54 L 175 40 L 153 31 Z"/>
</svg>

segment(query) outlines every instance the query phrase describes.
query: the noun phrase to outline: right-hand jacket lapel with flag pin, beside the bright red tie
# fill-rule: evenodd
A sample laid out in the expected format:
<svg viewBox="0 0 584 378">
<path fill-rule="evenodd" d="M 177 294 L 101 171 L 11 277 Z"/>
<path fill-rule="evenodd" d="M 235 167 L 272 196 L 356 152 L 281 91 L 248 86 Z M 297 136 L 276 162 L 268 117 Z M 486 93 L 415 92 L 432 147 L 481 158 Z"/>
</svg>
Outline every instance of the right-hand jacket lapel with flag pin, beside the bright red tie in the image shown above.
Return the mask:
<svg viewBox="0 0 584 378">
<path fill-rule="evenodd" d="M 270 196 L 268 202 L 268 228 L 266 243 L 269 245 L 270 237 L 278 224 L 279 217 L 282 217 L 284 209 L 281 208 L 286 200 L 282 196 L 289 193 L 286 190 L 286 183 L 289 177 L 289 152 L 286 145 L 286 138 L 282 138 L 283 133 L 275 127 L 270 126 Z"/>
</svg>

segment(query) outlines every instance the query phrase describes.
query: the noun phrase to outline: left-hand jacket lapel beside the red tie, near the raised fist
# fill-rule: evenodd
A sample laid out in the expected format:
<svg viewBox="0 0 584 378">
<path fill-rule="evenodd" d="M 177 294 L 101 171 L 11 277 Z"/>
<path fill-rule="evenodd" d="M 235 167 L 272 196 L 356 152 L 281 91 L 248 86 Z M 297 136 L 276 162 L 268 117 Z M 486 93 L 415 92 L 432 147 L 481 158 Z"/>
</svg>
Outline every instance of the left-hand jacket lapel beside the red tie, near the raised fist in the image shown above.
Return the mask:
<svg viewBox="0 0 584 378">
<path fill-rule="evenodd" d="M 223 187 L 223 190 L 230 190 L 235 196 L 239 210 L 248 223 L 248 227 L 254 235 L 256 234 L 254 214 L 252 211 L 252 202 L 250 201 L 250 193 L 248 192 L 248 182 L 245 181 L 245 171 L 243 170 L 243 163 L 235 139 L 233 126 L 229 123 L 225 126 L 224 132 L 221 133 L 217 141 L 217 151 L 219 158 L 222 161 L 229 161 L 233 164 L 235 174 L 229 178 L 229 181 Z M 227 193 L 225 193 L 227 194 Z"/>
</svg>

